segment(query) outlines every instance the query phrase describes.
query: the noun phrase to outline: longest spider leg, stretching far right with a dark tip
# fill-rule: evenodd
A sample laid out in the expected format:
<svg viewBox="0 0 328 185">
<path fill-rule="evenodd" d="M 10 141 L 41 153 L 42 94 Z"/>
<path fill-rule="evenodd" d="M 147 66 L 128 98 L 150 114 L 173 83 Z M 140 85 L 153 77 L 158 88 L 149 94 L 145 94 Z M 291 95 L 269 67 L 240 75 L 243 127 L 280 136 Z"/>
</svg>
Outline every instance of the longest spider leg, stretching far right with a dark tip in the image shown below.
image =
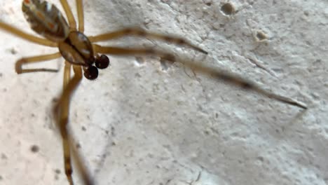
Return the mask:
<svg viewBox="0 0 328 185">
<path fill-rule="evenodd" d="M 186 67 L 189 67 L 194 71 L 201 72 L 208 76 L 212 76 L 217 80 L 226 81 L 245 90 L 252 90 L 266 97 L 272 98 L 274 100 L 278 100 L 279 102 L 284 102 L 286 104 L 291 104 L 293 106 L 300 107 L 302 109 L 307 109 L 306 105 L 301 102 L 296 102 L 295 100 L 292 100 L 288 97 L 283 97 L 280 95 L 275 95 L 273 93 L 270 93 L 260 88 L 255 83 L 247 81 L 234 74 L 229 74 L 224 71 L 221 71 L 217 69 L 217 67 L 205 66 L 204 64 L 192 62 L 191 60 L 182 60 L 180 58 L 176 59 L 176 57 L 174 55 L 171 55 L 170 53 L 163 53 L 158 50 L 153 50 L 149 48 L 116 48 L 116 47 L 104 47 L 96 44 L 93 44 L 93 48 L 97 53 L 107 53 L 111 55 L 157 55 L 159 57 L 165 58 L 166 60 L 171 60 L 172 62 L 174 61 L 182 62 Z"/>
</svg>

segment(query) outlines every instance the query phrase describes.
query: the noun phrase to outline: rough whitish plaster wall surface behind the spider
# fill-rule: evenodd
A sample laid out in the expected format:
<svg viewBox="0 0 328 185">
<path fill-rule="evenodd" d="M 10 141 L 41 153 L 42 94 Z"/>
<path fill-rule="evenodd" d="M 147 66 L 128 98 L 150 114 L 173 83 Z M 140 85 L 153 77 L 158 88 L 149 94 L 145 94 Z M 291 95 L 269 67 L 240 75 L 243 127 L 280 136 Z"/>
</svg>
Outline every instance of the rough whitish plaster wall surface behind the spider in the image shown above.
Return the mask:
<svg viewBox="0 0 328 185">
<path fill-rule="evenodd" d="M 111 57 L 110 69 L 97 81 L 84 79 L 71 100 L 71 130 L 97 184 L 328 183 L 327 1 L 235 0 L 228 17 L 224 3 L 88 0 L 86 34 L 139 25 L 183 36 L 210 55 L 135 38 L 104 44 L 188 55 L 309 109 L 194 76 L 158 57 Z M 33 33 L 20 4 L 1 1 L 0 20 Z M 266 41 L 257 41 L 257 32 Z M 0 44 L 0 184 L 67 184 L 50 114 L 63 60 L 41 64 L 60 67 L 57 74 L 17 75 L 20 57 L 53 49 L 4 32 Z"/>
</svg>

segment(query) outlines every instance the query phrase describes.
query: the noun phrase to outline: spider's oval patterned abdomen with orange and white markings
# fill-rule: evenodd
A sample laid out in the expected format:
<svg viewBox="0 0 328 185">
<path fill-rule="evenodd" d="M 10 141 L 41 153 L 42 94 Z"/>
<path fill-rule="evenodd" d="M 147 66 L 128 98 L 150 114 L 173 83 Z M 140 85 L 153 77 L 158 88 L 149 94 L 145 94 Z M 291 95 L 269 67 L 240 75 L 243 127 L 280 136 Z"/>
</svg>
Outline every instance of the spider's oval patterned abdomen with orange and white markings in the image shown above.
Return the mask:
<svg viewBox="0 0 328 185">
<path fill-rule="evenodd" d="M 34 32 L 55 42 L 67 38 L 69 26 L 53 4 L 43 0 L 24 0 L 22 11 Z"/>
</svg>

